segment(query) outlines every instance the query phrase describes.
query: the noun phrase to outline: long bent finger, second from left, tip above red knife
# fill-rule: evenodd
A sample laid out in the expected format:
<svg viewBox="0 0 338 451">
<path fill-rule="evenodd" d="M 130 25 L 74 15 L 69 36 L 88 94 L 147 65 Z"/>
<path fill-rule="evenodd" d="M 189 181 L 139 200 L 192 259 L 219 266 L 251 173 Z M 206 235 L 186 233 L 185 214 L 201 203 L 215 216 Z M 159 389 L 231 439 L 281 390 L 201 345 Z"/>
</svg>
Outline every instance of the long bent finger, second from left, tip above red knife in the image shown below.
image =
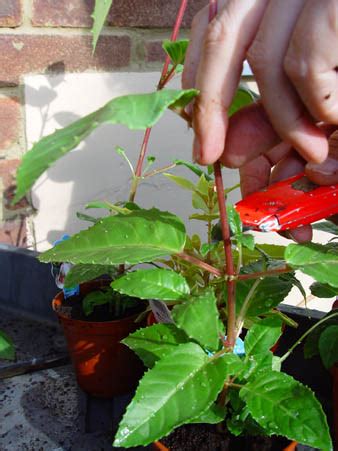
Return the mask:
<svg viewBox="0 0 338 451">
<path fill-rule="evenodd" d="M 320 163 L 327 156 L 327 140 L 310 120 L 283 67 L 290 35 L 304 5 L 305 0 L 271 1 L 249 49 L 248 60 L 276 132 L 306 160 Z"/>
</svg>

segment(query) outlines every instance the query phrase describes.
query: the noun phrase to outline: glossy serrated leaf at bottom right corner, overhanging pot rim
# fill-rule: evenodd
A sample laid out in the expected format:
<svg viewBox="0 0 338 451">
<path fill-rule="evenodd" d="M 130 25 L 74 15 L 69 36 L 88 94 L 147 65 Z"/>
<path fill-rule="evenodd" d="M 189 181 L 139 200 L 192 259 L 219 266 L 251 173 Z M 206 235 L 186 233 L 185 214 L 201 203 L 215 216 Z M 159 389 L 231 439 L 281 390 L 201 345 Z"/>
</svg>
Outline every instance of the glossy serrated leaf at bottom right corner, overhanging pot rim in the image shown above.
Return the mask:
<svg viewBox="0 0 338 451">
<path fill-rule="evenodd" d="M 240 390 L 251 415 L 269 434 L 332 450 L 322 407 L 312 391 L 287 374 L 266 371 Z"/>
</svg>

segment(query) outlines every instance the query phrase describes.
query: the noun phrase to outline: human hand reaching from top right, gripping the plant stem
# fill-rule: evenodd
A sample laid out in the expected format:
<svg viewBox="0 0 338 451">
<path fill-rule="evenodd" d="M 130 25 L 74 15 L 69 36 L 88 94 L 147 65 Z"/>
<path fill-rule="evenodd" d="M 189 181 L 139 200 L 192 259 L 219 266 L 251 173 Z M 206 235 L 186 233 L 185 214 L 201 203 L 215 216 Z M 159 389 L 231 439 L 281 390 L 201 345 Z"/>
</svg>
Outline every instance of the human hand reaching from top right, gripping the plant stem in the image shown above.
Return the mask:
<svg viewBox="0 0 338 451">
<path fill-rule="evenodd" d="M 273 180 L 310 162 L 306 172 L 313 181 L 338 182 L 337 152 L 327 158 L 327 133 L 318 126 L 338 124 L 337 13 L 334 0 L 220 0 L 210 25 L 208 8 L 196 16 L 183 73 L 185 88 L 201 90 L 193 112 L 196 161 L 220 158 L 240 167 L 244 195 L 265 186 L 274 165 Z M 229 120 L 246 58 L 261 103 Z"/>
</svg>

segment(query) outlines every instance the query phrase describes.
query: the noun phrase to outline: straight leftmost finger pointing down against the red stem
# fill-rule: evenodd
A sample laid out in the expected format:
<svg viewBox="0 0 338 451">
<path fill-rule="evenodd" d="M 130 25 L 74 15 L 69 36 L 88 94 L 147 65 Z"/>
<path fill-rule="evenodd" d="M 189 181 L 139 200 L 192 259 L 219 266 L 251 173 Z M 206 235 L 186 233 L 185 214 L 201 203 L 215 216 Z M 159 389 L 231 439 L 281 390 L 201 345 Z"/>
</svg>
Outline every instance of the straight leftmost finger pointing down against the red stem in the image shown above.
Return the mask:
<svg viewBox="0 0 338 451">
<path fill-rule="evenodd" d="M 228 0 L 207 28 L 196 75 L 196 87 L 201 93 L 195 102 L 193 119 L 194 159 L 201 164 L 211 164 L 223 153 L 227 111 L 238 86 L 246 49 L 267 3 Z"/>
</svg>

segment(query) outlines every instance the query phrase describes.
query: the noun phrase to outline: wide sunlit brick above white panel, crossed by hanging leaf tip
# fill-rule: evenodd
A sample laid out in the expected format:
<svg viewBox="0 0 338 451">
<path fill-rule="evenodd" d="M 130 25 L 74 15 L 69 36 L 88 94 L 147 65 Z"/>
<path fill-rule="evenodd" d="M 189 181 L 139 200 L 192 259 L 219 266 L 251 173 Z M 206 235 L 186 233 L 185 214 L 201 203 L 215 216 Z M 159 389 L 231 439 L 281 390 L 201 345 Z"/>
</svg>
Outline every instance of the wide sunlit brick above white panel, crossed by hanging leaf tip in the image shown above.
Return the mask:
<svg viewBox="0 0 338 451">
<path fill-rule="evenodd" d="M 119 69 L 129 59 L 127 36 L 102 36 L 92 55 L 91 36 L 0 35 L 0 86 L 16 85 L 27 73 Z"/>
</svg>

